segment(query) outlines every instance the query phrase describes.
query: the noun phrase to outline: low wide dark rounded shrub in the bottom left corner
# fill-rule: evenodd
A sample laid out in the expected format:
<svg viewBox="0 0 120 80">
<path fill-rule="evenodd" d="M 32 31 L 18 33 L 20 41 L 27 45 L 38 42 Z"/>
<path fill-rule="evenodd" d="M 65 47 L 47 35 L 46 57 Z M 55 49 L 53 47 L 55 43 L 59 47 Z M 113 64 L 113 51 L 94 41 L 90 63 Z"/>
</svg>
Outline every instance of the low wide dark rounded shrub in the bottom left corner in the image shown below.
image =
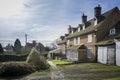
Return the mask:
<svg viewBox="0 0 120 80">
<path fill-rule="evenodd" d="M 0 66 L 0 76 L 23 76 L 33 71 L 31 65 L 20 62 L 4 62 Z"/>
</svg>

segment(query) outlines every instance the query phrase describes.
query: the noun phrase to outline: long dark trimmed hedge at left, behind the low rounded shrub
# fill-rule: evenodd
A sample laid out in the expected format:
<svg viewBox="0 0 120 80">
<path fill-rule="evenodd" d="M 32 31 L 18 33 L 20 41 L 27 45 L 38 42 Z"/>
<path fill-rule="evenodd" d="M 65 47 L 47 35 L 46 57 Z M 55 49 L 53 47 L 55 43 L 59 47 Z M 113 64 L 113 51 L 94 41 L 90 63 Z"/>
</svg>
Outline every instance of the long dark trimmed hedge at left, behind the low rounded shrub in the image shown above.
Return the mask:
<svg viewBox="0 0 120 80">
<path fill-rule="evenodd" d="M 0 62 L 6 61 L 25 61 L 27 59 L 28 54 L 16 55 L 16 54 L 1 54 Z"/>
</svg>

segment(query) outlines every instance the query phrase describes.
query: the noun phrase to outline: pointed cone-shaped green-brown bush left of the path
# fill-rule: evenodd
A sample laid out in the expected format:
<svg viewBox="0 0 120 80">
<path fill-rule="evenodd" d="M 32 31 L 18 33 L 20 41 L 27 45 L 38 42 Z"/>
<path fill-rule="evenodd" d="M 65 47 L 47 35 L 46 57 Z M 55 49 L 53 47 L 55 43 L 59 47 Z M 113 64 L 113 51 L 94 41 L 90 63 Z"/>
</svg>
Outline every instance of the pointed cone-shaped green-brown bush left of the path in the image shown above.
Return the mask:
<svg viewBox="0 0 120 80">
<path fill-rule="evenodd" d="M 46 69 L 49 67 L 45 57 L 41 56 L 35 48 L 31 50 L 26 62 L 34 66 L 36 70 Z"/>
</svg>

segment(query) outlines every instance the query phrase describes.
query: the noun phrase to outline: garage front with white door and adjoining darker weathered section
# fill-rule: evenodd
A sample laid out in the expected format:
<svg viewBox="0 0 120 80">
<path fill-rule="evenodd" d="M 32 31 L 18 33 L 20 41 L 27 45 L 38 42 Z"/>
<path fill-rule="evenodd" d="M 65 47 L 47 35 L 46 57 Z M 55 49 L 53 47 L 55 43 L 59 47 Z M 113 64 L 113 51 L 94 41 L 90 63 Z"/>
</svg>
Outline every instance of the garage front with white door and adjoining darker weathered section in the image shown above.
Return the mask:
<svg viewBox="0 0 120 80">
<path fill-rule="evenodd" d="M 99 46 L 97 57 L 100 63 L 115 65 L 115 45 Z"/>
</svg>

